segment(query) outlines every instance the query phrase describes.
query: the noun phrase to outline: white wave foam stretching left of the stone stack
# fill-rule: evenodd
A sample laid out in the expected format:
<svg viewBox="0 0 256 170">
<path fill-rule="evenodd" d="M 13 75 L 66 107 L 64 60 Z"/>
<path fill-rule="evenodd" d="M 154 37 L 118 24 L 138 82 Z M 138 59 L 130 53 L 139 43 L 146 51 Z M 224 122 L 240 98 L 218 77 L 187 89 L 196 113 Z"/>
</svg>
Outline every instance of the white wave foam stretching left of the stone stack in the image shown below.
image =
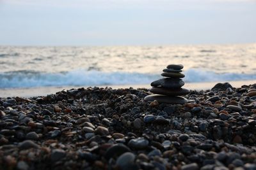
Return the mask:
<svg viewBox="0 0 256 170">
<path fill-rule="evenodd" d="M 0 74 L 0 88 L 45 86 L 131 85 L 150 83 L 156 75 L 142 73 L 104 73 L 77 69 L 66 73 L 12 72 Z"/>
</svg>

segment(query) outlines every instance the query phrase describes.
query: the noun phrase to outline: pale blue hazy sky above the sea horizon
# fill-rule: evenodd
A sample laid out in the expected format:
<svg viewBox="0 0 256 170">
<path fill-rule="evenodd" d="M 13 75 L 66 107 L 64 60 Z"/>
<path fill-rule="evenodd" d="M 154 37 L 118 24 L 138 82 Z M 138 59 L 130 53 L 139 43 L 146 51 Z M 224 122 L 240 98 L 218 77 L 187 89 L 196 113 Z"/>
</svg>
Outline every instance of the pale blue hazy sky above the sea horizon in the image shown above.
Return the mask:
<svg viewBox="0 0 256 170">
<path fill-rule="evenodd" d="M 0 45 L 256 43 L 256 0 L 0 0 Z"/>
</svg>

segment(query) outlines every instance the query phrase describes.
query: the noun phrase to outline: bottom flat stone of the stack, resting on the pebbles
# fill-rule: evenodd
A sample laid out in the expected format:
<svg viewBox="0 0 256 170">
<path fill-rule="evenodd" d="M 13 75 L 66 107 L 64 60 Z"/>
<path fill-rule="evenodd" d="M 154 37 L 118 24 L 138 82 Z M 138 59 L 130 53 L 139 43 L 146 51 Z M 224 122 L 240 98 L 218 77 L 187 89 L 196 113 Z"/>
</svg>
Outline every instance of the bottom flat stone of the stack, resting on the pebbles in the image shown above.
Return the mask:
<svg viewBox="0 0 256 170">
<path fill-rule="evenodd" d="M 145 101 L 157 100 L 158 103 L 170 103 L 170 104 L 185 104 L 188 103 L 188 99 L 180 96 L 163 96 L 159 94 L 148 95 L 144 98 Z"/>
</svg>

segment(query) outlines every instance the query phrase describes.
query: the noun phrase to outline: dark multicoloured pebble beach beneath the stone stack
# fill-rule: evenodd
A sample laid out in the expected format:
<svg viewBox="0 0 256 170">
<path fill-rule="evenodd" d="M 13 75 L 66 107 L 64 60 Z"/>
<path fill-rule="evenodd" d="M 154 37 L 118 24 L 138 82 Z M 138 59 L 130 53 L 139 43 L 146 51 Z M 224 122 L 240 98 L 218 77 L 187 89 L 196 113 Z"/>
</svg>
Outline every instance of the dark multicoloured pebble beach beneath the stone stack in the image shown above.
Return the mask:
<svg viewBox="0 0 256 170">
<path fill-rule="evenodd" d="M 89 87 L 0 98 L 0 169 L 256 169 L 256 84 L 190 90 Z"/>
</svg>

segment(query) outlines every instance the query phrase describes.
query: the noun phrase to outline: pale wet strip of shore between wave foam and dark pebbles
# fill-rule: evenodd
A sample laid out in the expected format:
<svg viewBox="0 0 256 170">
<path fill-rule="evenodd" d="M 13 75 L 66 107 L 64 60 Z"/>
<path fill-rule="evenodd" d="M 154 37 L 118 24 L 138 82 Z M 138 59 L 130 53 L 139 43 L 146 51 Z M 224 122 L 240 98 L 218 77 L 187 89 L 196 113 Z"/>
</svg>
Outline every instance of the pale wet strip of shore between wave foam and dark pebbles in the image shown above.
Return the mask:
<svg viewBox="0 0 256 170">
<path fill-rule="evenodd" d="M 189 90 L 210 90 L 216 83 L 225 83 L 225 81 L 199 82 L 199 83 L 185 83 L 184 88 Z M 256 83 L 256 80 L 239 80 L 228 81 L 232 87 L 241 87 L 242 85 L 250 85 Z M 56 94 L 61 90 L 79 89 L 84 86 L 63 86 L 63 87 L 32 87 L 32 88 L 14 88 L 14 89 L 0 89 L 0 97 L 36 97 L 47 96 L 48 94 Z M 90 86 L 85 86 L 86 89 Z M 94 86 L 92 86 L 94 87 Z M 134 85 L 100 85 L 97 87 L 111 87 L 112 89 L 150 89 L 150 84 L 134 84 Z"/>
</svg>

